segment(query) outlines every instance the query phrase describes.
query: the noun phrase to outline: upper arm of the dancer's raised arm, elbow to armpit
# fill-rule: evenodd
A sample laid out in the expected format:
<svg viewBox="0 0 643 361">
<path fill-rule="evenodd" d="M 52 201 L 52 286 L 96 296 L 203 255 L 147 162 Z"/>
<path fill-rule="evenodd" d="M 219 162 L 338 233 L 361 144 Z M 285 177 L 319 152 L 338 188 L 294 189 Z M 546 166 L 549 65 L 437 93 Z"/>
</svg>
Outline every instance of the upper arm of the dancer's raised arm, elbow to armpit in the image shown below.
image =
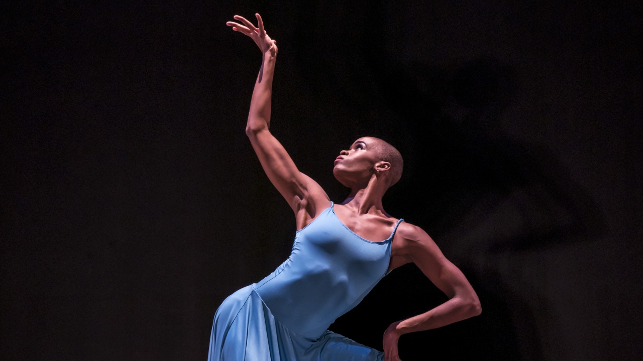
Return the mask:
<svg viewBox="0 0 643 361">
<path fill-rule="evenodd" d="M 316 203 L 329 199 L 317 182 L 297 169 L 284 146 L 269 130 L 248 130 L 246 133 L 268 179 L 294 213 L 299 213 L 302 207 L 313 206 L 314 209 Z"/>
</svg>

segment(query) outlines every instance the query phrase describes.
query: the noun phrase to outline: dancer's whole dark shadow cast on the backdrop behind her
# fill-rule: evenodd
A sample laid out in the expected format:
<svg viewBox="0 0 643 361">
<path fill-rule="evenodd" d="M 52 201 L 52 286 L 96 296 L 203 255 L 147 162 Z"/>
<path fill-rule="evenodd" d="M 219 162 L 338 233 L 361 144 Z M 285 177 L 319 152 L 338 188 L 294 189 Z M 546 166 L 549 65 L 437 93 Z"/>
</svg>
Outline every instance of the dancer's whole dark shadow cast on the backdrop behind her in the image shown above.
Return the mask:
<svg viewBox="0 0 643 361">
<path fill-rule="evenodd" d="M 483 304 L 480 317 L 440 331 L 406 335 L 401 341 L 406 351 L 401 352 L 419 357 L 426 355 L 430 344 L 451 350 L 448 359 L 454 353 L 489 360 L 543 358 L 543 337 L 538 333 L 547 327 L 545 303 L 525 299 L 524 290 L 503 283 L 507 275 L 500 274 L 494 260 L 600 236 L 605 226 L 597 204 L 545 146 L 526 145 L 503 134 L 507 125 L 501 126 L 501 116 L 520 88 L 519 75 L 511 66 L 485 57 L 455 69 L 431 64 L 409 69 L 383 53 L 365 57 L 374 59 L 371 71 L 379 75 L 379 91 L 388 106 L 399 118 L 413 119 L 407 126 L 419 145 L 413 157 L 421 167 L 405 180 L 403 189 L 395 190 L 394 198 L 388 198 L 387 209 L 417 217 L 407 219 L 439 240 Z M 421 89 L 418 78 L 430 86 Z M 377 330 L 365 339 L 356 338 L 377 346 L 388 323 L 424 312 L 440 299 L 444 301 L 444 295 L 417 268 L 403 267 L 331 330 L 349 337 Z M 401 308 L 403 312 L 398 311 Z M 376 313 L 385 313 L 388 323 L 368 321 L 365 326 L 364 320 Z"/>
</svg>

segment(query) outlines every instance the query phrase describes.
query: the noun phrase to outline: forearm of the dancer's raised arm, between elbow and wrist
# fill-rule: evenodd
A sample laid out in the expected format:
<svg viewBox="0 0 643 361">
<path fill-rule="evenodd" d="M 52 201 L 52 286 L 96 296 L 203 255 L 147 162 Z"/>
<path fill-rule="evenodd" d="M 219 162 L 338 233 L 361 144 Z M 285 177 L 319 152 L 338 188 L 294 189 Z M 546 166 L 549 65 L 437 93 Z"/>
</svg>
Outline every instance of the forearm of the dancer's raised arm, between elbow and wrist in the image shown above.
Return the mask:
<svg viewBox="0 0 643 361">
<path fill-rule="evenodd" d="M 252 92 L 246 132 L 257 132 L 269 128 L 275 60 L 276 54 L 271 51 L 264 53 L 255 89 Z"/>
</svg>

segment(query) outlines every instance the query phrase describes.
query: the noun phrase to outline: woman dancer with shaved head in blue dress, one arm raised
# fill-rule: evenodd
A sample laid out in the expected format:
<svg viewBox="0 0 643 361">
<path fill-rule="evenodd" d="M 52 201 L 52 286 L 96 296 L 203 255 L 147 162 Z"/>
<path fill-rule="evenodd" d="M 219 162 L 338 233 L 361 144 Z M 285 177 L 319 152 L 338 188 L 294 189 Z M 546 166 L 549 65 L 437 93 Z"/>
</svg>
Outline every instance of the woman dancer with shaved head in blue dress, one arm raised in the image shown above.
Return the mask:
<svg viewBox="0 0 643 361">
<path fill-rule="evenodd" d="M 430 330 L 480 314 L 464 274 L 430 236 L 384 211 L 382 197 L 402 174 L 397 150 L 374 137 L 342 150 L 333 174 L 351 189 L 333 204 L 314 180 L 299 172 L 269 132 L 277 46 L 244 17 L 228 22 L 255 41 L 263 62 L 252 94 L 246 134 L 268 178 L 294 211 L 298 229 L 291 256 L 259 283 L 230 295 L 215 313 L 208 360 L 399 360 L 404 333 Z M 327 330 L 391 270 L 415 263 L 449 301 L 384 333 L 384 352 Z"/>
</svg>

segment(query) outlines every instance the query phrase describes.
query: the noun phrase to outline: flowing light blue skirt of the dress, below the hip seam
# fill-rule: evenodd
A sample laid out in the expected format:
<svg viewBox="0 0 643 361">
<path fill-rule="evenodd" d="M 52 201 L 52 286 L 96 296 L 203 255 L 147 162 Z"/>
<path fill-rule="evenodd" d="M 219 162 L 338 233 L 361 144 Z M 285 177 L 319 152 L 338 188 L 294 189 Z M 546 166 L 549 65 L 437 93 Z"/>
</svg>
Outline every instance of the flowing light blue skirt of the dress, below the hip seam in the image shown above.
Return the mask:
<svg viewBox="0 0 643 361">
<path fill-rule="evenodd" d="M 252 286 L 226 298 L 214 315 L 208 361 L 382 361 L 384 353 L 325 331 L 297 335 L 275 320 Z"/>
</svg>

